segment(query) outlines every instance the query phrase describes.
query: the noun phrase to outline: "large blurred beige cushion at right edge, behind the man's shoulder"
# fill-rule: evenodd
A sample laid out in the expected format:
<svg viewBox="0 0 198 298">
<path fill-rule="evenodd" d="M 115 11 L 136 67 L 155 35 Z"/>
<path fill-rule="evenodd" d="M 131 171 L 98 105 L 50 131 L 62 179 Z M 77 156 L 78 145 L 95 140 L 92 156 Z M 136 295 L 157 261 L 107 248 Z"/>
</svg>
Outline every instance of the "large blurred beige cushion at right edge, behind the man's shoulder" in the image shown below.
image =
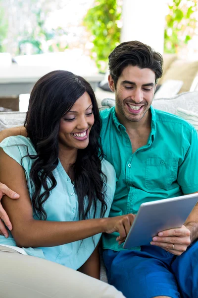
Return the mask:
<svg viewBox="0 0 198 298">
<path fill-rule="evenodd" d="M 167 79 L 182 80 L 183 85 L 179 93 L 187 92 L 190 90 L 197 73 L 198 61 L 188 62 L 184 60 L 176 60 L 163 75 L 160 84 L 163 84 Z"/>
</svg>

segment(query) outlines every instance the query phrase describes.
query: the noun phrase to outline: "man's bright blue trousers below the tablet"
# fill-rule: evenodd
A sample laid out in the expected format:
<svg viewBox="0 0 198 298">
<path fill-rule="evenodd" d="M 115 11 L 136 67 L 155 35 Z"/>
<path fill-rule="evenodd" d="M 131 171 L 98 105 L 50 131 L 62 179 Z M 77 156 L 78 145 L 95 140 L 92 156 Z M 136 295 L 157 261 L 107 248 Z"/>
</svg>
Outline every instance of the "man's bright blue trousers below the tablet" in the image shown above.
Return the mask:
<svg viewBox="0 0 198 298">
<path fill-rule="evenodd" d="M 145 245 L 103 251 L 109 284 L 126 298 L 198 298 L 198 241 L 181 256 Z"/>
</svg>

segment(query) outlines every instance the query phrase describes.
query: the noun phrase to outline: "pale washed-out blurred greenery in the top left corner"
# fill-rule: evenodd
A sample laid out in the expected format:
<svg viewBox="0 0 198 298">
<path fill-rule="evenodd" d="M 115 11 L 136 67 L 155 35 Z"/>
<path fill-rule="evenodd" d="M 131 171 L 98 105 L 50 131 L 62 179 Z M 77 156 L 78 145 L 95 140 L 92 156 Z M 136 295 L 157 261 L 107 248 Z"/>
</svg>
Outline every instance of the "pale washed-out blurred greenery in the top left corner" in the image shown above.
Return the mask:
<svg viewBox="0 0 198 298">
<path fill-rule="evenodd" d="M 12 56 L 64 51 L 67 32 L 46 26 L 49 14 L 63 0 L 0 0 L 0 51 Z"/>
</svg>

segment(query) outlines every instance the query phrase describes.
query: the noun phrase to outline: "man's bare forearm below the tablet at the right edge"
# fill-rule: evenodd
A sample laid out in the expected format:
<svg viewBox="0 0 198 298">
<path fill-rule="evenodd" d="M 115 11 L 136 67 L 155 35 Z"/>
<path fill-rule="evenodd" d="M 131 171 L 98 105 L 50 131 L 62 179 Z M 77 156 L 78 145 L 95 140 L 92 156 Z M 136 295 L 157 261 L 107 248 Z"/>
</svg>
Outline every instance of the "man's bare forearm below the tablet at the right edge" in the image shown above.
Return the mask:
<svg viewBox="0 0 198 298">
<path fill-rule="evenodd" d="M 198 204 L 184 224 L 191 231 L 191 243 L 198 239 Z"/>
</svg>

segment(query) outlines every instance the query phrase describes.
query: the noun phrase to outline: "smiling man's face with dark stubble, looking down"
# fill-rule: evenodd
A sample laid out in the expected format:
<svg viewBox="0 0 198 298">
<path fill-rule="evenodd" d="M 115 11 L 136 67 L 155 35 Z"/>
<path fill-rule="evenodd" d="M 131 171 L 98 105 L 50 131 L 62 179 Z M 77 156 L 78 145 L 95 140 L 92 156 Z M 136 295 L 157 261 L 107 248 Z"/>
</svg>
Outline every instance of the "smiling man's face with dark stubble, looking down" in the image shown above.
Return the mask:
<svg viewBox="0 0 198 298">
<path fill-rule="evenodd" d="M 150 69 L 127 66 L 116 86 L 109 75 L 109 86 L 115 92 L 115 109 L 120 120 L 138 122 L 146 116 L 153 100 L 155 74 Z"/>
</svg>

